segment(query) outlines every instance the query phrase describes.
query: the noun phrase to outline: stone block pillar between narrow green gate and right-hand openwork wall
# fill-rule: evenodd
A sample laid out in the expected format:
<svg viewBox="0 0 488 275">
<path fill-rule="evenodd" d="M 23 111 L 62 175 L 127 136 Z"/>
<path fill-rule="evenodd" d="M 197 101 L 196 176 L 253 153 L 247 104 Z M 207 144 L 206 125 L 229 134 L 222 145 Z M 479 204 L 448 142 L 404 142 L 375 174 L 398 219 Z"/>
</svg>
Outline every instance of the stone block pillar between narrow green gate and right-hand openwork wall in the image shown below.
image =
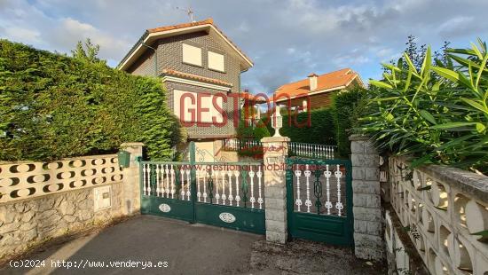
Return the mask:
<svg viewBox="0 0 488 275">
<path fill-rule="evenodd" d="M 366 136 L 350 136 L 352 212 L 355 254 L 361 259 L 384 258 L 380 198 L 380 155 Z"/>
</svg>

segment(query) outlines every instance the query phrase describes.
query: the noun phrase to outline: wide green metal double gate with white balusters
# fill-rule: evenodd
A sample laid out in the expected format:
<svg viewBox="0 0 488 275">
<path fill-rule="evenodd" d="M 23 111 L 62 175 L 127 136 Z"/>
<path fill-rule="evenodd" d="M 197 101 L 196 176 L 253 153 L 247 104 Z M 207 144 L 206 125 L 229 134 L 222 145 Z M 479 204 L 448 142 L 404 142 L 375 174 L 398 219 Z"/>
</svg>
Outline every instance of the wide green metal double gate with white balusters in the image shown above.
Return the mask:
<svg viewBox="0 0 488 275">
<path fill-rule="evenodd" d="M 264 234 L 261 162 L 141 161 L 141 212 Z"/>
</svg>

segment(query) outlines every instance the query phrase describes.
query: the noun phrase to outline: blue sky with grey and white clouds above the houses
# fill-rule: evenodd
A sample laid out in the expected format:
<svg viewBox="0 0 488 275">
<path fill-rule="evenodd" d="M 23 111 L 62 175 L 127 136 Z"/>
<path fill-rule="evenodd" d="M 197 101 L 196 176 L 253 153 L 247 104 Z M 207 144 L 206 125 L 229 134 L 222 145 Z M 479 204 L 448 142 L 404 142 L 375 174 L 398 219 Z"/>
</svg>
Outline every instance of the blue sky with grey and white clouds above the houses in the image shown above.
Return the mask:
<svg viewBox="0 0 488 275">
<path fill-rule="evenodd" d="M 213 18 L 255 66 L 241 88 L 270 94 L 281 84 L 343 67 L 363 81 L 382 75 L 406 37 L 468 47 L 488 35 L 487 0 L 0 0 L 0 38 L 70 53 L 90 37 L 99 56 L 115 67 L 147 28 Z"/>
</svg>

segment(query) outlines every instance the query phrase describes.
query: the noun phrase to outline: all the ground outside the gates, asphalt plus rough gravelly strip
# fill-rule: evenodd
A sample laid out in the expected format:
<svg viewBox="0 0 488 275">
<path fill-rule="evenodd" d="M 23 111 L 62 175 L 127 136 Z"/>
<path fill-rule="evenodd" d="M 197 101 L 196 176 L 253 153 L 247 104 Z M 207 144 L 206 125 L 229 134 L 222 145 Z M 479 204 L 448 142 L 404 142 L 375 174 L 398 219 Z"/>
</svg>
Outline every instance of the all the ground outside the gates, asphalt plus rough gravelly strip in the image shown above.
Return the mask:
<svg viewBox="0 0 488 275">
<path fill-rule="evenodd" d="M 44 260 L 45 267 L 4 267 L 0 274 L 385 274 L 384 266 L 356 259 L 350 248 L 305 240 L 283 246 L 267 243 L 261 235 L 157 216 L 138 216 L 28 259 Z M 148 262 L 162 267 L 144 268 Z M 88 267 L 94 263 L 105 267 Z M 85 268 L 68 269 L 68 264 Z"/>
</svg>

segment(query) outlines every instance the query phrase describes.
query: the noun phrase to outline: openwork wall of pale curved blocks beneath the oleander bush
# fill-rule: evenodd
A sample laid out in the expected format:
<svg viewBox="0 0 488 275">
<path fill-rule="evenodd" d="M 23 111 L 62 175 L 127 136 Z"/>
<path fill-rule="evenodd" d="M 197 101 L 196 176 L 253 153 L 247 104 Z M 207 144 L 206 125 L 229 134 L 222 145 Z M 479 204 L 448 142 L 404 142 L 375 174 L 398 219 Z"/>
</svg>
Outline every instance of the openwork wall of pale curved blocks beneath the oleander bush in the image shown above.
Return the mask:
<svg viewBox="0 0 488 275">
<path fill-rule="evenodd" d="M 390 158 L 387 250 L 396 259 L 390 271 L 414 271 L 418 255 L 432 274 L 488 274 L 488 243 L 476 233 L 488 231 L 488 177 L 429 165 L 410 169 L 405 158 Z M 402 253 L 392 228 L 398 219 L 413 249 Z M 405 241 L 404 241 L 405 243 Z"/>
</svg>

